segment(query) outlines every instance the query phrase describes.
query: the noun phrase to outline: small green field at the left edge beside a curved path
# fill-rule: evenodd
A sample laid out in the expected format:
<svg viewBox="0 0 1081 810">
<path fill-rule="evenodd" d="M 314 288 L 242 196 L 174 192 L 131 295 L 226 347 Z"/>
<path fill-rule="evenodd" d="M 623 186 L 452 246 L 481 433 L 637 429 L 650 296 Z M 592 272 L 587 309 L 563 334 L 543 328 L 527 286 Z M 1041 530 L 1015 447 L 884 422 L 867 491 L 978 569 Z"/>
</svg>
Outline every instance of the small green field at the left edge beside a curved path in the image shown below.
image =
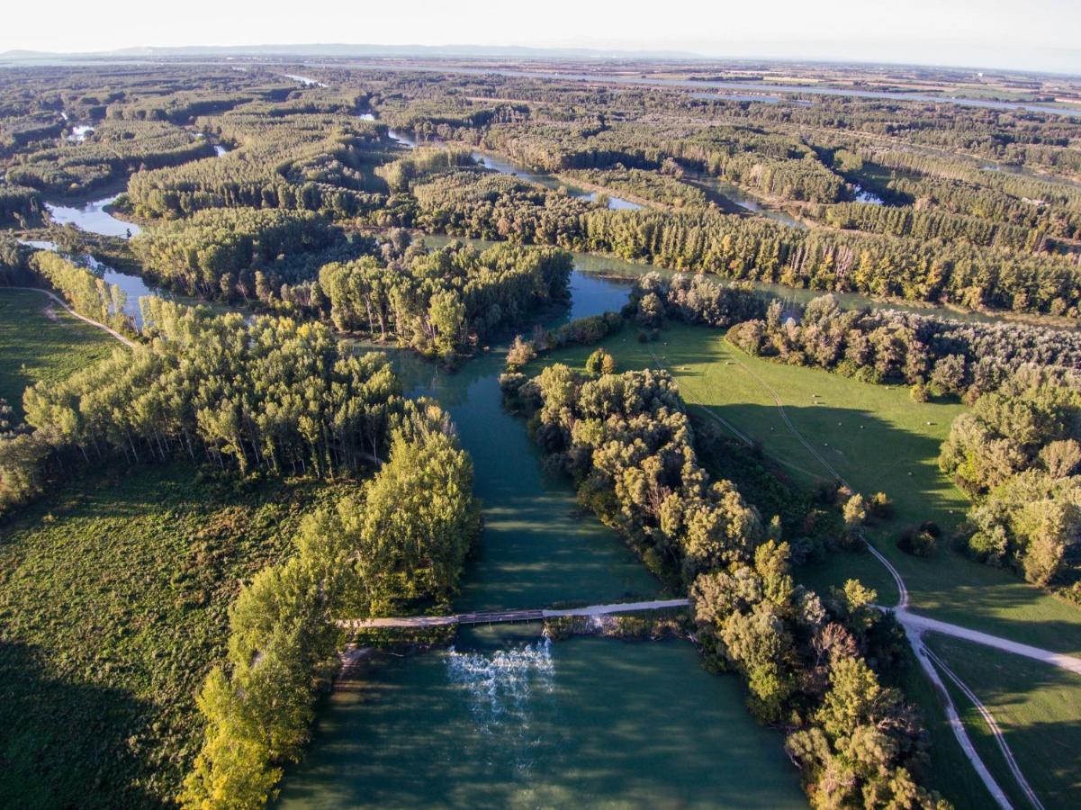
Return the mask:
<svg viewBox="0 0 1081 810">
<path fill-rule="evenodd" d="M 64 380 L 118 345 L 40 292 L 0 287 L 0 398 L 16 419 L 27 386 Z"/>
</svg>

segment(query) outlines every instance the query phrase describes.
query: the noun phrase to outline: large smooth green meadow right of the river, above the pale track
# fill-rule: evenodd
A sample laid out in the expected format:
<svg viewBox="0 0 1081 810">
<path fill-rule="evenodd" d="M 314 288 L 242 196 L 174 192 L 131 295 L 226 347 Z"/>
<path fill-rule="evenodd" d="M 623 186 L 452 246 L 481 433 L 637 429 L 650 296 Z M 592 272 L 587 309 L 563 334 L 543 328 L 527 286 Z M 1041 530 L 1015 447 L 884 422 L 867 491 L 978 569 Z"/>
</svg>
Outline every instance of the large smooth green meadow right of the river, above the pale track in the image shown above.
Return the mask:
<svg viewBox="0 0 1081 810">
<path fill-rule="evenodd" d="M 765 454 L 796 483 L 831 480 L 828 464 L 857 492 L 885 492 L 895 504 L 895 515 L 869 527 L 868 535 L 900 571 L 915 611 L 1057 652 L 1081 652 L 1077 607 L 1012 573 L 972 562 L 948 548 L 947 542 L 925 559 L 895 545 L 908 527 L 934 520 L 948 532 L 964 516 L 967 501 L 942 475 L 936 461 L 961 406 L 915 402 L 905 387 L 870 385 L 751 357 L 728 343 L 720 331 L 705 327 L 672 326 L 655 343 L 639 343 L 626 329 L 601 345 L 620 369 L 667 368 L 689 403 L 760 441 Z M 537 362 L 580 367 L 591 350 L 569 348 Z M 889 574 L 870 555 L 831 555 L 828 563 L 811 567 L 805 574 L 819 588 L 858 576 L 878 589 L 883 603 L 896 601 Z"/>
</svg>

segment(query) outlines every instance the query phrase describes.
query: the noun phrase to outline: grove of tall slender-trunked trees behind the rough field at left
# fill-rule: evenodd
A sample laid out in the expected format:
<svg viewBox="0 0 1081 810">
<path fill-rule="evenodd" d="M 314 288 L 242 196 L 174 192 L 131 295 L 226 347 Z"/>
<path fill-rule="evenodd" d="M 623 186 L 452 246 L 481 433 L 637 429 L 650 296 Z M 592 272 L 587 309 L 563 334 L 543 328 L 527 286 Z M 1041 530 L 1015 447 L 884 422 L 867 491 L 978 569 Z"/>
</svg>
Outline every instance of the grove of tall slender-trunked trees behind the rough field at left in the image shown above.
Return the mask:
<svg viewBox="0 0 1081 810">
<path fill-rule="evenodd" d="M 28 430 L 0 442 L 0 508 L 92 460 L 174 455 L 224 468 L 350 475 L 385 456 L 401 390 L 378 355 L 319 323 L 214 316 L 148 297 L 149 343 L 24 395 Z"/>
</svg>

